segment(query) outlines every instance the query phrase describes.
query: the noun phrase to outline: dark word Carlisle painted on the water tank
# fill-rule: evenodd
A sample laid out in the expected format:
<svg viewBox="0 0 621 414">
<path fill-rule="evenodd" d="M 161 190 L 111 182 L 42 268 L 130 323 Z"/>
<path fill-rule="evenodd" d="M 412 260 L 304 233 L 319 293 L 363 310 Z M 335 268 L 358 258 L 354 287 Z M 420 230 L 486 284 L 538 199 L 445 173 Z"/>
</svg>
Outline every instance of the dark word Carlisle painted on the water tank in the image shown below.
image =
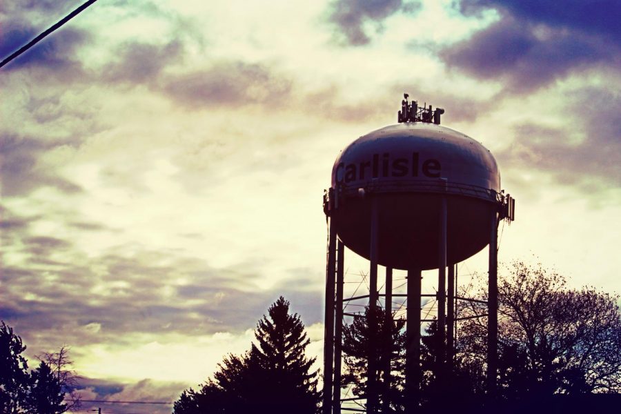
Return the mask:
<svg viewBox="0 0 621 414">
<path fill-rule="evenodd" d="M 418 177 L 419 172 L 430 178 L 440 177 L 442 166 L 437 159 L 426 159 L 420 166 L 418 152 L 412 152 L 411 159 L 395 158 L 391 159 L 388 152 L 382 154 L 380 160 L 379 154 L 373 154 L 372 161 L 361 161 L 359 164 L 339 163 L 336 169 L 337 182 L 346 183 L 366 178 L 378 177 Z"/>
</svg>

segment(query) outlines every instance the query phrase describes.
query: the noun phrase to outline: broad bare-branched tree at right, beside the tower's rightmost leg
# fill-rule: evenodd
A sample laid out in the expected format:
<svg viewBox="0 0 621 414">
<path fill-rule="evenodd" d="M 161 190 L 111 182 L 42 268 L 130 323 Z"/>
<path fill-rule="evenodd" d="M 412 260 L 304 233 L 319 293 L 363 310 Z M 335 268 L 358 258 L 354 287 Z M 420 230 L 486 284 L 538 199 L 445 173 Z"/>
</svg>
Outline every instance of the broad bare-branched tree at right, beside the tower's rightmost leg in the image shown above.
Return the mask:
<svg viewBox="0 0 621 414">
<path fill-rule="evenodd" d="M 486 299 L 486 290 L 480 295 Z M 568 289 L 558 273 L 516 262 L 499 280 L 498 299 L 499 384 L 504 397 L 621 391 L 619 297 L 593 288 Z M 469 304 L 460 316 L 484 312 Z M 485 318 L 460 326 L 462 362 L 480 371 L 486 332 Z"/>
</svg>

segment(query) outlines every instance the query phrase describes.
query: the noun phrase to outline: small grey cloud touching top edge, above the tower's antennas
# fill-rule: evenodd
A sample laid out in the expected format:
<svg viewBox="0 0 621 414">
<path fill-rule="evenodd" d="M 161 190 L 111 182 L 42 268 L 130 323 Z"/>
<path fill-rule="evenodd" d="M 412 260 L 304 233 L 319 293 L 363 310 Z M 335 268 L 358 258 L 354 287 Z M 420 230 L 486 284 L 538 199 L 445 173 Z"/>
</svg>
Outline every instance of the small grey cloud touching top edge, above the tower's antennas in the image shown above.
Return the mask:
<svg viewBox="0 0 621 414">
<path fill-rule="evenodd" d="M 382 23 L 396 12 L 414 12 L 420 8 L 419 1 L 403 0 L 335 0 L 331 3 L 328 22 L 336 26 L 336 34 L 344 43 L 362 46 L 371 42 L 364 30 L 367 23 L 381 31 Z"/>
</svg>

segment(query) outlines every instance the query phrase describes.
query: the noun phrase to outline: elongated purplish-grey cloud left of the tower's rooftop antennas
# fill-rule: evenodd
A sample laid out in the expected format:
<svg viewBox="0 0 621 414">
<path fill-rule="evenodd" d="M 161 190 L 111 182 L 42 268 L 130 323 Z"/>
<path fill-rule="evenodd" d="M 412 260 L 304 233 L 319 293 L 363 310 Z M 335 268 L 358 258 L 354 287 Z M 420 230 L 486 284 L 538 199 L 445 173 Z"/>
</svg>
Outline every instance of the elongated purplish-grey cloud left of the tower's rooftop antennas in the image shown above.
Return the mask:
<svg viewBox="0 0 621 414">
<path fill-rule="evenodd" d="M 259 63 L 225 61 L 206 70 L 164 79 L 161 89 L 186 107 L 260 103 L 284 106 L 292 81 Z"/>
</svg>

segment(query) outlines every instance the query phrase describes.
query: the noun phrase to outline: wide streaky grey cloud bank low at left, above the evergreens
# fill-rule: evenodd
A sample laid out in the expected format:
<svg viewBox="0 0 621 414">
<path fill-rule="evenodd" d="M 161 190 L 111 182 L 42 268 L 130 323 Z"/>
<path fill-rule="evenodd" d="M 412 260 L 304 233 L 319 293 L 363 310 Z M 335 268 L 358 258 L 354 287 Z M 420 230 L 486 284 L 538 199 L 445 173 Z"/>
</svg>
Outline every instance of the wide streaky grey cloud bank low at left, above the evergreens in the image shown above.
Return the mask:
<svg viewBox="0 0 621 414">
<path fill-rule="evenodd" d="M 21 231 L 13 240 L 12 255 L 24 260 L 3 266 L 0 313 L 35 351 L 53 346 L 58 332 L 77 347 L 122 342 L 129 333 L 243 331 L 282 294 L 295 299 L 307 324 L 321 319 L 319 292 L 304 283 L 253 290 L 257 275 L 248 263 L 216 269 L 201 259 L 144 250 L 92 258 L 59 237 Z M 308 274 L 291 271 L 299 281 Z"/>
</svg>

